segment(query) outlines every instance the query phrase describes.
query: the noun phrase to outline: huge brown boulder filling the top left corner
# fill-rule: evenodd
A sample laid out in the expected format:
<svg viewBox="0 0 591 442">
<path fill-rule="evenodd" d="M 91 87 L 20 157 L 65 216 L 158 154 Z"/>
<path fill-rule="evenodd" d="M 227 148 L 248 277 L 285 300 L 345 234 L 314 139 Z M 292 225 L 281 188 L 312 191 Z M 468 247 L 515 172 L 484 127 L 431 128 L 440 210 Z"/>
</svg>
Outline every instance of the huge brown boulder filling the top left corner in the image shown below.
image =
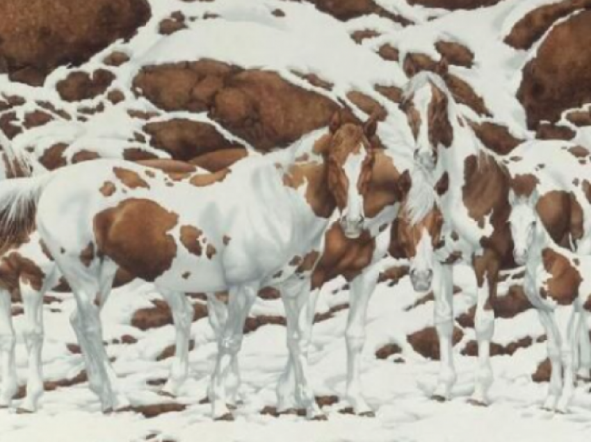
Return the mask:
<svg viewBox="0 0 591 442">
<path fill-rule="evenodd" d="M 0 60 L 13 81 L 42 85 L 62 65 L 80 65 L 147 23 L 146 0 L 3 0 Z"/>
</svg>

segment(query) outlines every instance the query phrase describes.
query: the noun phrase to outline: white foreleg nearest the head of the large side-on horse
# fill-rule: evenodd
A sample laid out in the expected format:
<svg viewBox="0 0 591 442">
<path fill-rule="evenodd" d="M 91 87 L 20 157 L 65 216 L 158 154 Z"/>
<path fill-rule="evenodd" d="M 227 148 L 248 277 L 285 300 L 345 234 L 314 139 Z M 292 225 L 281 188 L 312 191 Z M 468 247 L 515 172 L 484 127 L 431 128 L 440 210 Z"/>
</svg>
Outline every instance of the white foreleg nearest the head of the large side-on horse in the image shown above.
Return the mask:
<svg viewBox="0 0 591 442">
<path fill-rule="evenodd" d="M 309 386 L 308 346 L 311 338 L 311 327 L 306 327 L 308 309 L 305 308 L 309 295 L 309 278 L 293 278 L 282 286 L 281 295 L 285 306 L 287 323 L 287 347 L 293 361 L 296 379 L 295 398 L 305 407 L 309 419 L 325 419 L 314 393 Z"/>
</svg>

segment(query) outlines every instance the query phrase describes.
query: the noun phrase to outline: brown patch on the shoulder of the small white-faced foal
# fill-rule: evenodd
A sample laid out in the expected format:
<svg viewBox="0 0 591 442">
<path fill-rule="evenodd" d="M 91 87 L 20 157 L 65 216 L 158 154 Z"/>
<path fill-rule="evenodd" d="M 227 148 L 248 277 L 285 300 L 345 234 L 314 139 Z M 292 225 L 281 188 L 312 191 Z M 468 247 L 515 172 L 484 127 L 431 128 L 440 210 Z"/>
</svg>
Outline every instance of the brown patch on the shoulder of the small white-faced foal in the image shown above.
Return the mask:
<svg viewBox="0 0 591 442">
<path fill-rule="evenodd" d="M 583 280 L 572 263 L 553 249 L 542 251 L 544 269 L 551 275 L 547 281 L 548 294 L 560 305 L 569 305 L 578 296 Z"/>
</svg>

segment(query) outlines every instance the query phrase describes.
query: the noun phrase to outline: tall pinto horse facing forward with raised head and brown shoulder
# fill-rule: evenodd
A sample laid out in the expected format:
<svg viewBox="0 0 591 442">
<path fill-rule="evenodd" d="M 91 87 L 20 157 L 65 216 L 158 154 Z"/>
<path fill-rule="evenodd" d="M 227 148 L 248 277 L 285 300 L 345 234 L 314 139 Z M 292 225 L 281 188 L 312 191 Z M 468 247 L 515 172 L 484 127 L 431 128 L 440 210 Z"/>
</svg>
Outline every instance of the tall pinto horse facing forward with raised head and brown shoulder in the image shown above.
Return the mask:
<svg viewBox="0 0 591 442">
<path fill-rule="evenodd" d="M 469 402 L 487 404 L 487 391 L 492 384 L 489 348 L 494 334 L 498 276 L 501 270 L 516 267 L 508 224 L 508 193 L 512 186 L 510 161 L 503 161 L 481 145 L 438 74 L 420 72 L 410 79 L 400 110 L 407 117 L 412 132 L 416 161 L 430 171 L 444 215 L 443 240 L 435 251 L 437 259 L 432 269 L 439 275 L 415 273 L 417 278 L 424 275 L 437 280 L 433 287 L 435 323 L 439 345 L 444 351 L 432 398 L 447 400 L 457 377 L 451 341 L 452 265 L 464 261 L 473 268 L 477 283 L 478 367 Z M 535 150 L 535 146 L 529 145 L 521 154 L 528 151 L 535 156 Z M 571 229 L 569 224 L 561 223 L 550 214 L 544 215 L 542 222 L 557 237 L 567 235 Z"/>
</svg>

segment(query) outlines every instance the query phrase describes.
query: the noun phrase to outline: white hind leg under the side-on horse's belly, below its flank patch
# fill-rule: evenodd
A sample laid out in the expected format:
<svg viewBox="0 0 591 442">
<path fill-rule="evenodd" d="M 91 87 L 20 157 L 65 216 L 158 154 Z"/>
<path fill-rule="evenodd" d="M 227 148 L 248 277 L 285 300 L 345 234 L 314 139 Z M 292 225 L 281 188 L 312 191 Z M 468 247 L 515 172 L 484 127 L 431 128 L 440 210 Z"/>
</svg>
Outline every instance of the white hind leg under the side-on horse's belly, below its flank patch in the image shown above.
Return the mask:
<svg viewBox="0 0 591 442">
<path fill-rule="evenodd" d="M 193 309 L 185 294 L 177 291 L 160 290 L 172 311 L 172 321 L 175 323 L 175 357 L 172 359 L 168 381 L 162 388 L 163 395 L 177 396 L 181 386 L 187 379 L 189 338 L 193 323 Z"/>
</svg>

